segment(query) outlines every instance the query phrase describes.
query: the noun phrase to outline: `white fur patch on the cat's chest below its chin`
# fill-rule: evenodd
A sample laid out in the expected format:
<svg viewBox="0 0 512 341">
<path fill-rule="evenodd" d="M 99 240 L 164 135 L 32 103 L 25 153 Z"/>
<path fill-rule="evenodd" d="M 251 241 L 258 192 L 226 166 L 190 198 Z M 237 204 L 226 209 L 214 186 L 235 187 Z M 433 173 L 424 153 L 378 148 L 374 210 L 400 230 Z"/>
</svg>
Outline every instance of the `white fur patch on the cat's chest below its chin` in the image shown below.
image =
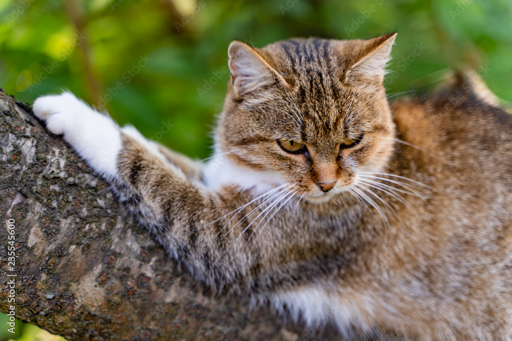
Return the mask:
<svg viewBox="0 0 512 341">
<path fill-rule="evenodd" d="M 254 189 L 257 192 L 266 192 L 286 183 L 279 172 L 257 171 L 236 165 L 218 151 L 204 167 L 203 177 L 210 190 L 236 185 L 241 190 Z"/>
</svg>

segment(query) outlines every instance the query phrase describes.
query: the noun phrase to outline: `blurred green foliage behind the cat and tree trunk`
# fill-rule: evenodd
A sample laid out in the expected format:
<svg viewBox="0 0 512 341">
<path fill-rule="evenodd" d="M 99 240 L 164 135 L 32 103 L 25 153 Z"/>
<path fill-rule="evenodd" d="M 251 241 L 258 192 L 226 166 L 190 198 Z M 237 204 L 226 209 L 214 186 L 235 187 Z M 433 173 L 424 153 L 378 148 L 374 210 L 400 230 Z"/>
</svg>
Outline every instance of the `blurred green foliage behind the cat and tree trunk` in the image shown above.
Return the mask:
<svg viewBox="0 0 512 341">
<path fill-rule="evenodd" d="M 0 0 L 0 87 L 30 104 L 70 89 L 120 124 L 205 158 L 232 40 L 264 47 L 395 30 L 389 93 L 420 94 L 472 67 L 512 101 L 510 0 Z M 12 335 L 6 321 L 0 339 L 55 339 L 22 324 Z"/>
</svg>

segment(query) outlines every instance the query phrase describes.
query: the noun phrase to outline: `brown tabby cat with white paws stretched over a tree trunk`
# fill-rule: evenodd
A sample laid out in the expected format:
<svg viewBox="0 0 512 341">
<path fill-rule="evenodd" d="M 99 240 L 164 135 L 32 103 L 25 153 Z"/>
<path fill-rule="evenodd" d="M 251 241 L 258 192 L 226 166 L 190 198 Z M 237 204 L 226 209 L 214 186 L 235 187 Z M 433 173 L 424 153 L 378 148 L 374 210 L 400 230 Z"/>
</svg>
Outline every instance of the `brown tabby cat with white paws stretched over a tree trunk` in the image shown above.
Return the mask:
<svg viewBox="0 0 512 341">
<path fill-rule="evenodd" d="M 233 41 L 209 165 L 70 93 L 34 112 L 218 292 L 348 338 L 512 339 L 512 119 L 467 82 L 388 102 L 395 37 Z"/>
</svg>

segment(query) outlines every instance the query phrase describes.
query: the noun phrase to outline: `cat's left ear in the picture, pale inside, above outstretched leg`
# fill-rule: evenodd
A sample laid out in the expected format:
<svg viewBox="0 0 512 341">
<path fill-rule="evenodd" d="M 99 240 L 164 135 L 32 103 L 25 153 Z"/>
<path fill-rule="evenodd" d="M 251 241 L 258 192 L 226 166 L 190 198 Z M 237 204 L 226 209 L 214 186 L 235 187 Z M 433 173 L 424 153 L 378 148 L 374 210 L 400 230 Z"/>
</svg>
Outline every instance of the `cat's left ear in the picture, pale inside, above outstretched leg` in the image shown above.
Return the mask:
<svg viewBox="0 0 512 341">
<path fill-rule="evenodd" d="M 231 85 L 237 98 L 276 82 L 287 85 L 262 54 L 246 43 L 237 40 L 231 42 L 228 55 Z"/>
</svg>

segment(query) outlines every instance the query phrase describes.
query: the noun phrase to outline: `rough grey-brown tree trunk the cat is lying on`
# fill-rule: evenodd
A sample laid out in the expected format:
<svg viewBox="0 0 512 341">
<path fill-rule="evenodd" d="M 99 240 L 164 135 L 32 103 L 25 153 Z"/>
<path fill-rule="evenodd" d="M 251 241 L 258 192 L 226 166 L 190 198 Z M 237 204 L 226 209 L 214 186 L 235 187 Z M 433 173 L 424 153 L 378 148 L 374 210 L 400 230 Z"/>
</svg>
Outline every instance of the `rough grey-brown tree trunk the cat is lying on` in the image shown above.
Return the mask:
<svg viewBox="0 0 512 341">
<path fill-rule="evenodd" d="M 212 294 L 123 212 L 108 184 L 27 104 L 0 89 L 0 110 L 0 311 L 14 305 L 18 319 L 69 340 L 337 338 Z"/>
</svg>

